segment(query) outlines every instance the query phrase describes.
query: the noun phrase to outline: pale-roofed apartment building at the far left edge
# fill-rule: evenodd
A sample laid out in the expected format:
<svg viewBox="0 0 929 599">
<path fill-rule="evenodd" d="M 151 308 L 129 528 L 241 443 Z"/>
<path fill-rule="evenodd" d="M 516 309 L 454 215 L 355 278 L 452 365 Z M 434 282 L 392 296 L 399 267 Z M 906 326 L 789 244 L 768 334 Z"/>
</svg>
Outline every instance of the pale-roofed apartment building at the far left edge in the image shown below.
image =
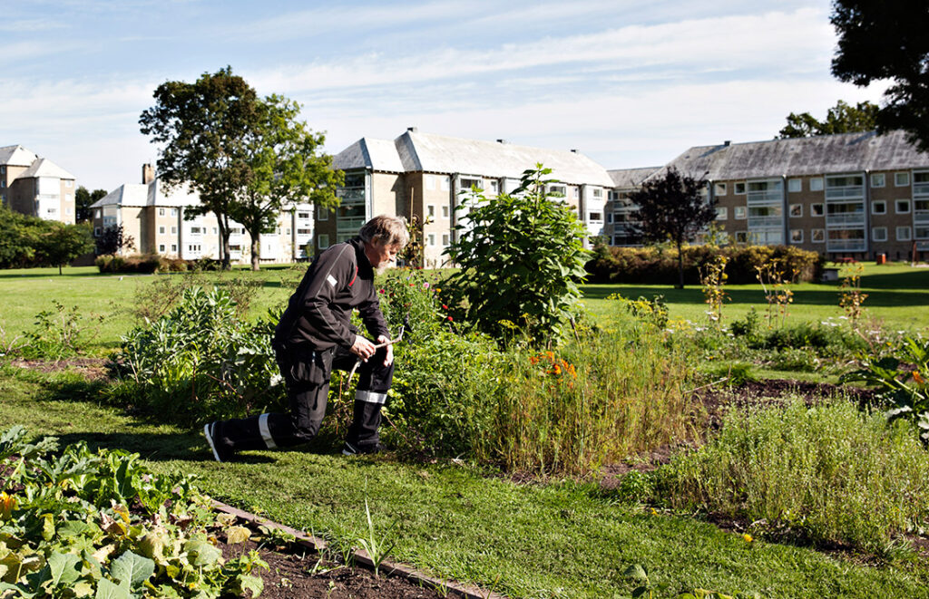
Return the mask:
<svg viewBox="0 0 929 599">
<path fill-rule="evenodd" d="M 73 224 L 74 175 L 22 146 L 0 147 L 0 201 L 11 210 Z"/>
</svg>

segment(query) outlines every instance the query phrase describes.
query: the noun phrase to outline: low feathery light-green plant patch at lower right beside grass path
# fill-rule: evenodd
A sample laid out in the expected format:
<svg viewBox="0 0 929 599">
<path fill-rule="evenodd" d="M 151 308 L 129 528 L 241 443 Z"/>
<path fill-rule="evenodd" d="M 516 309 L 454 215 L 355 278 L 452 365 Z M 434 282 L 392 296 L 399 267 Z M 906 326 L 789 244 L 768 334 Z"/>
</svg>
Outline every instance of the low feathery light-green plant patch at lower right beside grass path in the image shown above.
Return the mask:
<svg viewBox="0 0 929 599">
<path fill-rule="evenodd" d="M 927 523 L 929 453 L 909 425 L 848 401 L 792 401 L 729 412 L 713 440 L 657 471 L 655 492 L 677 509 L 883 554 Z"/>
</svg>

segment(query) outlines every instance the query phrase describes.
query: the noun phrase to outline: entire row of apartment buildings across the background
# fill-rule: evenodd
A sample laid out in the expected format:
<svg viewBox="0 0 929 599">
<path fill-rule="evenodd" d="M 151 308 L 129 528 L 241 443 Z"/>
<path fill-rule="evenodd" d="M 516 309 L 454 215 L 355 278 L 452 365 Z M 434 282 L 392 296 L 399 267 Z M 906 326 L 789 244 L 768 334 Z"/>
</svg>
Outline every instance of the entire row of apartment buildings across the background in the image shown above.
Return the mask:
<svg viewBox="0 0 929 599">
<path fill-rule="evenodd" d="M 263 261 L 294 261 L 354 236 L 376 214 L 423 224 L 425 262 L 440 266 L 458 235 L 472 187 L 486 198 L 511 192 L 537 163 L 551 168 L 588 234 L 635 245 L 629 194 L 674 168 L 708 181 L 713 226 L 730 243 L 785 244 L 831 258 L 908 259 L 929 254 L 929 155 L 900 132 L 839 134 L 692 147 L 661 167 L 608 171 L 582 154 L 424 134 L 411 127 L 394 140 L 363 137 L 334 157 L 346 173 L 336 210 L 294 205 L 261 236 Z M 73 223 L 74 178 L 19 146 L 0 147 L 0 197 L 14 210 Z M 95 232 L 122 224 L 136 251 L 185 259 L 218 257 L 216 218 L 184 219 L 194 194 L 165 193 L 150 167 L 92 206 Z M 248 261 L 251 240 L 238 224 L 233 261 Z M 308 249 L 308 251 L 307 251 Z"/>
</svg>

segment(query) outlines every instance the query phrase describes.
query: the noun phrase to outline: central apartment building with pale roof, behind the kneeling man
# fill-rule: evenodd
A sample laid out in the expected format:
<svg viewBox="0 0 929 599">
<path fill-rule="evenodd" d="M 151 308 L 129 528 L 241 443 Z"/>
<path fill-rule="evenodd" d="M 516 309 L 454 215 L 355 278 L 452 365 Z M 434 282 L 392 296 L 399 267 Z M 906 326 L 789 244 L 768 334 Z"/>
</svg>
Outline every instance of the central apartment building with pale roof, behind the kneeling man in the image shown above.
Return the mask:
<svg viewBox="0 0 929 599">
<path fill-rule="evenodd" d="M 514 191 L 523 172 L 543 163 L 559 181 L 549 191 L 563 196 L 590 236 L 604 234 L 604 208 L 613 180 L 606 169 L 576 151 L 518 146 L 420 133 L 415 127 L 390 140 L 363 137 L 334 157 L 345 171 L 341 205 L 316 214 L 316 248 L 355 236 L 377 214 L 423 224 L 425 265 L 441 266 L 458 235 L 474 188 L 485 198 Z"/>
</svg>

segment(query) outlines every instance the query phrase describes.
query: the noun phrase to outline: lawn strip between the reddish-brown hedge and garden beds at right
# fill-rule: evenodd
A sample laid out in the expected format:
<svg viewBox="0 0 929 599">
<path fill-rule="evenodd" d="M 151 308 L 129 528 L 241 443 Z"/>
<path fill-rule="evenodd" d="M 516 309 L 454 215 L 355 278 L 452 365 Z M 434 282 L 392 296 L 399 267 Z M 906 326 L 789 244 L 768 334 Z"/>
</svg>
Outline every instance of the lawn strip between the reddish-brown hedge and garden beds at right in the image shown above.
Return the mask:
<svg viewBox="0 0 929 599">
<path fill-rule="evenodd" d="M 802 283 L 792 285 L 793 303 L 788 308 L 789 321 L 822 321 L 844 315 L 839 307 L 840 283 Z M 861 277 L 861 287 L 868 299 L 865 317 L 894 329 L 922 330 L 929 326 L 929 268 L 912 268 L 905 264 L 869 264 Z M 661 285 L 587 285 L 583 287 L 584 305 L 595 318 L 611 312 L 606 298 L 619 293 L 624 298 L 647 299 L 663 295 L 671 318 L 705 323 L 706 304 L 700 286 L 675 289 Z M 752 306 L 764 318 L 765 293 L 760 285 L 726 286 L 729 301 L 723 309 L 725 322 L 744 318 Z"/>
</svg>

